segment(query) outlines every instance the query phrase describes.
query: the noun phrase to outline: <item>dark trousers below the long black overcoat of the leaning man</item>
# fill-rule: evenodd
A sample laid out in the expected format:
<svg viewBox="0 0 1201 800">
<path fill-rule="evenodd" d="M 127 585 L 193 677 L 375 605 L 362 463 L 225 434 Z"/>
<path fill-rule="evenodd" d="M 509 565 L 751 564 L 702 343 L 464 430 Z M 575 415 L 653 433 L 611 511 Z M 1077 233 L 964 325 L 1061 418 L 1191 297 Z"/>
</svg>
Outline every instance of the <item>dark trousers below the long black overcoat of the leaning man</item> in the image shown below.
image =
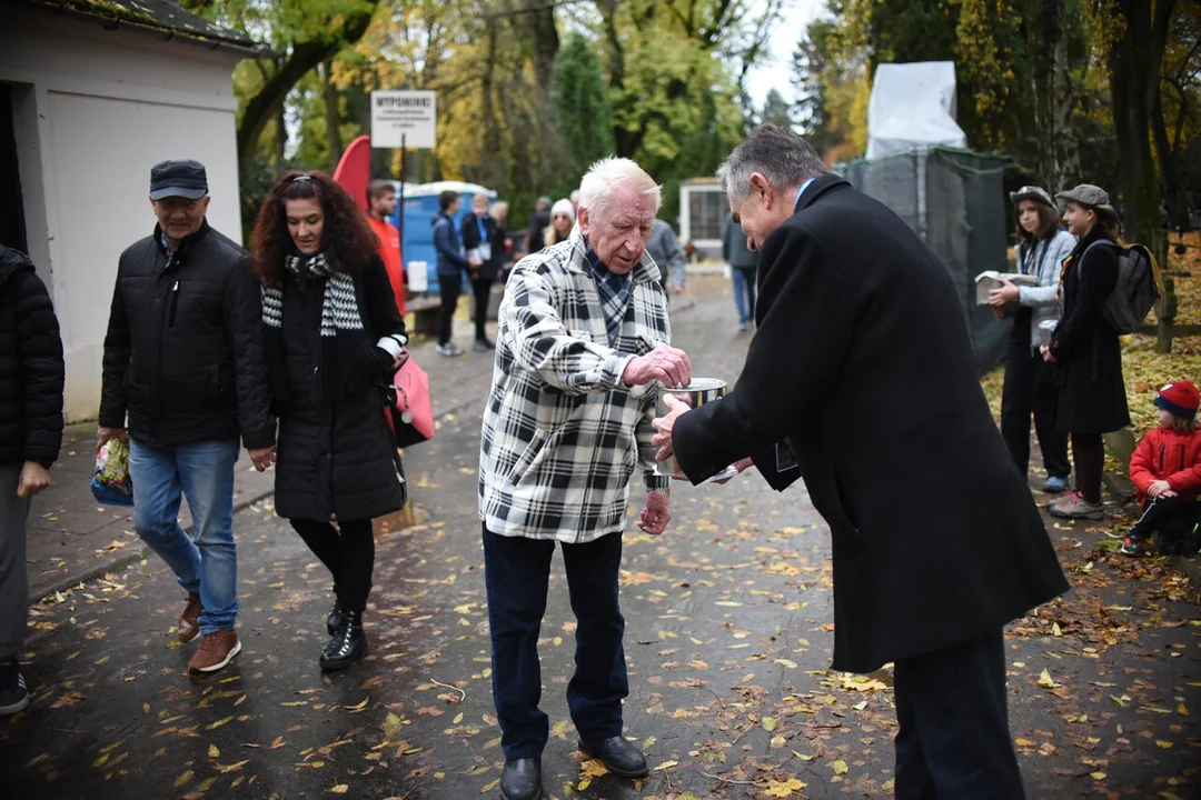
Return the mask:
<svg viewBox="0 0 1201 800">
<path fill-rule="evenodd" d="M 1021 800 L 1000 631 L 896 662 L 897 800 Z"/>
</svg>

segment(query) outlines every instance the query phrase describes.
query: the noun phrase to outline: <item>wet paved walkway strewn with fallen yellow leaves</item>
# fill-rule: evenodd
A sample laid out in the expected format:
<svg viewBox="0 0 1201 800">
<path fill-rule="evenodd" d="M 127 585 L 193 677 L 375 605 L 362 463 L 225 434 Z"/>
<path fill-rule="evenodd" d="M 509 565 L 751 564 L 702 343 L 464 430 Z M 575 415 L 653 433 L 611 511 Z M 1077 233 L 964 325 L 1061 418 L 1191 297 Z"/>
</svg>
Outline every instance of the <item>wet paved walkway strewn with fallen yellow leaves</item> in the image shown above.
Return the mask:
<svg viewBox="0 0 1201 800">
<path fill-rule="evenodd" d="M 734 378 L 749 341 L 733 330 L 724 287 L 694 281 L 695 306 L 673 319 L 700 375 Z M 154 558 L 34 606 L 25 656 L 34 702 L 0 723 L 7 793 L 498 795 L 474 513 L 491 362 L 437 359 L 429 344 L 414 353 L 431 372 L 441 427 L 406 453 L 417 524 L 377 525 L 368 660 L 319 673 L 328 576 L 269 499 L 252 503 L 235 521 L 245 650 L 215 676 L 184 675 L 193 645 L 171 636 L 181 593 Z M 635 483 L 632 513 L 644 498 Z M 643 781 L 605 775 L 575 752 L 563 698 L 575 624 L 556 555 L 540 640 L 550 796 L 891 795 L 890 674 L 829 672 L 830 541 L 803 491 L 777 494 L 754 474 L 724 487 L 677 486 L 673 513 L 663 536 L 631 523 L 623 540 L 627 734 L 656 768 Z M 65 511 L 56 516 L 66 522 Z M 1194 589 L 1163 561 L 1098 549 L 1109 541 L 1100 529 L 1059 523 L 1048 534 L 1074 591 L 1006 632 L 1011 727 L 1029 796 L 1197 796 Z"/>
</svg>

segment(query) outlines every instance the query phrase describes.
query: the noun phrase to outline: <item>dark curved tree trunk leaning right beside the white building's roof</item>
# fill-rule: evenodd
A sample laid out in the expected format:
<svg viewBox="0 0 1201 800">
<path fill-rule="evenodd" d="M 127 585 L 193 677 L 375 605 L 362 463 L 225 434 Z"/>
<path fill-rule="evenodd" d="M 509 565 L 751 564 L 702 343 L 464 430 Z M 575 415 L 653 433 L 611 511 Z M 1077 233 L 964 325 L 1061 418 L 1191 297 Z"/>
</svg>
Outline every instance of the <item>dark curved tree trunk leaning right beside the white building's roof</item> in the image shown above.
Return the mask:
<svg viewBox="0 0 1201 800">
<path fill-rule="evenodd" d="M 263 84 L 258 94 L 250 98 L 238 122 L 238 162 L 249 167 L 258 149 L 263 128 L 279 109 L 292 88 L 322 61 L 337 54 L 347 44 L 363 38 L 371 25 L 380 0 L 364 0 L 366 7 L 347 14 L 335 30 L 305 42 L 298 42 L 292 53 L 279 65 L 275 73 Z"/>
</svg>

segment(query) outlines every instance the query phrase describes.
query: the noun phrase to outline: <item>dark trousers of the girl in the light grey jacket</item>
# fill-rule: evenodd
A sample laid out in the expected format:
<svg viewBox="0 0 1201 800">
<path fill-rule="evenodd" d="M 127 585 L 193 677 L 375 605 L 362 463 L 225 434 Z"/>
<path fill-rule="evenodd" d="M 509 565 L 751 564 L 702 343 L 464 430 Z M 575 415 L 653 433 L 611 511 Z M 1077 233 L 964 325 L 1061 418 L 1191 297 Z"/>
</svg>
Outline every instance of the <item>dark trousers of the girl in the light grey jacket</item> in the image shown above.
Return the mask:
<svg viewBox="0 0 1201 800">
<path fill-rule="evenodd" d="M 1058 387 L 1042 354 L 1030 349 L 1030 325 L 1027 315 L 1014 323 L 1005 359 L 1005 386 L 1000 393 L 1000 435 L 1017 469 L 1024 475 L 1030 468 L 1030 415 L 1042 451 L 1042 465 L 1052 477 L 1068 477 L 1068 437 L 1054 427 Z"/>
</svg>

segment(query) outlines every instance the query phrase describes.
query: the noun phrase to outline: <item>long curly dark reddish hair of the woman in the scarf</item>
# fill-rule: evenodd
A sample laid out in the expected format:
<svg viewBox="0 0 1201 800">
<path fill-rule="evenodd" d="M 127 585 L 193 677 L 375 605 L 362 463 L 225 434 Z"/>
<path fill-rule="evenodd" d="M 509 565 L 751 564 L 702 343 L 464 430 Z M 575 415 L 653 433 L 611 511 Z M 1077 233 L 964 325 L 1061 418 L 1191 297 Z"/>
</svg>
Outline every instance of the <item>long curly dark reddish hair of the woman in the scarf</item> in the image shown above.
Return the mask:
<svg viewBox="0 0 1201 800">
<path fill-rule="evenodd" d="M 380 239 L 354 199 L 325 173 L 289 172 L 267 196 L 255 223 L 255 273 L 268 285 L 279 285 L 283 258 L 295 253 L 288 233 L 287 201 L 313 199 L 325 216 L 321 248 L 333 269 L 360 275 L 371 264 Z"/>
</svg>

